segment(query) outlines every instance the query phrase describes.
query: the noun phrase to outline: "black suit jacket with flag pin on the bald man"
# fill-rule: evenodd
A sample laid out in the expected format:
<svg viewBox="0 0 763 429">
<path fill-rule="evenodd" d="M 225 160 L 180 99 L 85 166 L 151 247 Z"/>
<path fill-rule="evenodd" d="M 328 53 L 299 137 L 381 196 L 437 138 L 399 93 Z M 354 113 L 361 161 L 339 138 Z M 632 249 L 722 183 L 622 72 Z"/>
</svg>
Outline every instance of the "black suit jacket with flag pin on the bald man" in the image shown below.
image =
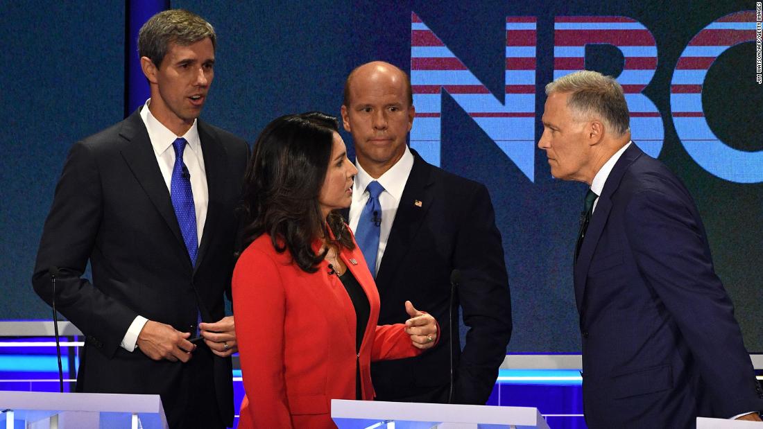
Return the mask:
<svg viewBox="0 0 763 429">
<path fill-rule="evenodd" d="M 376 275 L 379 324 L 408 319 L 406 299 L 437 319 L 439 344 L 419 357 L 372 364 L 378 400 L 446 402 L 449 335 L 456 367 L 455 402 L 485 404 L 511 335 L 511 301 L 501 233 L 485 185 L 427 164 L 415 151 Z M 417 201 L 419 203 L 417 203 Z M 461 272 L 452 326 L 450 275 Z M 459 347 L 458 306 L 469 328 Z"/>
</svg>

